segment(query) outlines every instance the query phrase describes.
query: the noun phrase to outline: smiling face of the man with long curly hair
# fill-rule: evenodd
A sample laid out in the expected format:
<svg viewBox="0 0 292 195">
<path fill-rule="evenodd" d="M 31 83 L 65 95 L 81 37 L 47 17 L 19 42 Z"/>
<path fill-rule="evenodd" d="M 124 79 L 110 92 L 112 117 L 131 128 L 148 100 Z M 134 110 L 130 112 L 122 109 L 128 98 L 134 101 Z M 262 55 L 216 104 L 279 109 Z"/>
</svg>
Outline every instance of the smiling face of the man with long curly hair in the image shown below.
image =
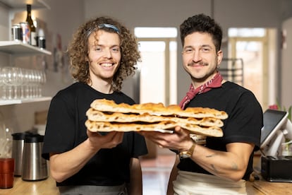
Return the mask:
<svg viewBox="0 0 292 195">
<path fill-rule="evenodd" d="M 88 37 L 88 63 L 91 85 L 111 84 L 121 60 L 117 33 L 97 30 Z"/>
</svg>

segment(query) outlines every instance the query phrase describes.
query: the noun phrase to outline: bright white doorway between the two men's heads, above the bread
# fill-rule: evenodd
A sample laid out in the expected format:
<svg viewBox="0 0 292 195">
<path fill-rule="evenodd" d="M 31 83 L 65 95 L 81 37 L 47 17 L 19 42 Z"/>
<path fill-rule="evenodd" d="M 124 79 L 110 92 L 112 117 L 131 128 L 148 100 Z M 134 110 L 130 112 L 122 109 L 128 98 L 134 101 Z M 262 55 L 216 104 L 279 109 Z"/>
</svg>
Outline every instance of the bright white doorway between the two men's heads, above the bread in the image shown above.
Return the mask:
<svg viewBox="0 0 292 195">
<path fill-rule="evenodd" d="M 136 101 L 176 104 L 176 28 L 135 28 L 142 61 L 135 78 Z"/>
</svg>

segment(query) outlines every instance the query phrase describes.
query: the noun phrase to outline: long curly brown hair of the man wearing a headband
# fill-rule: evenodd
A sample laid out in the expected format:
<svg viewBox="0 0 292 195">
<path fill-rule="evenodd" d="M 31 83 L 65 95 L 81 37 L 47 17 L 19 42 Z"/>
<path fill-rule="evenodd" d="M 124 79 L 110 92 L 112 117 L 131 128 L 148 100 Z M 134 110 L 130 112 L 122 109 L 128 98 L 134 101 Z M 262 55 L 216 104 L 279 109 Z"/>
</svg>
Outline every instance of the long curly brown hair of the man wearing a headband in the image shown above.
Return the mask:
<svg viewBox="0 0 292 195">
<path fill-rule="evenodd" d="M 118 36 L 121 40 L 121 61 L 118 71 L 114 74 L 112 88 L 115 91 L 121 90 L 123 80 L 135 73 L 135 65 L 140 61 L 138 42 L 130 30 L 121 25 L 117 20 L 109 17 L 98 17 L 80 25 L 73 35 L 73 40 L 68 45 L 68 55 L 71 61 L 71 75 L 81 83 L 91 83 L 89 75 L 88 57 L 88 37 L 92 32 L 99 30 L 99 25 L 111 24 L 118 28 Z M 112 28 L 102 28 L 107 32 L 116 32 Z"/>
</svg>

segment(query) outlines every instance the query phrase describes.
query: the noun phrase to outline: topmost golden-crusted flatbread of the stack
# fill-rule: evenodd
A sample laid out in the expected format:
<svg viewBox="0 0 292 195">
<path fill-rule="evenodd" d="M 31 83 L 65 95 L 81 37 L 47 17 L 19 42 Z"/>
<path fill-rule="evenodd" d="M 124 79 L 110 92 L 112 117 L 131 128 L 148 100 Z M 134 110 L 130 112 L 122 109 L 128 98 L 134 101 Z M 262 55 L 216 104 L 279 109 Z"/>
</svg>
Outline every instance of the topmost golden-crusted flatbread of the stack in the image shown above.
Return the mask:
<svg viewBox="0 0 292 195">
<path fill-rule="evenodd" d="M 178 105 L 169 105 L 164 107 L 162 103 L 144 103 L 136 105 L 128 105 L 126 103 L 116 104 L 113 100 L 99 99 L 94 100 L 90 105 L 95 110 L 102 112 L 121 112 L 121 113 L 137 113 L 152 115 L 177 115 L 180 117 L 205 118 L 212 117 L 215 119 L 227 119 L 228 115 L 224 111 L 219 111 L 207 107 L 188 107 L 181 110 Z"/>
</svg>

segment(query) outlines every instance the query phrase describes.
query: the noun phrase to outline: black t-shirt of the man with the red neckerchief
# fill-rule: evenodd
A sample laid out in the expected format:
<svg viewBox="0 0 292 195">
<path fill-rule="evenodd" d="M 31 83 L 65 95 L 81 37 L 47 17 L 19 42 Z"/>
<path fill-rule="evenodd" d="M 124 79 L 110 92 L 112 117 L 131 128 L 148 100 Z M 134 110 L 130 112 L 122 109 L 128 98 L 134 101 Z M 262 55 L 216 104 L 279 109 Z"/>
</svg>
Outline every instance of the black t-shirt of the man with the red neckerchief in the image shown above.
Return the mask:
<svg viewBox="0 0 292 195">
<path fill-rule="evenodd" d="M 262 107 L 250 90 L 227 81 L 221 88 L 196 95 L 187 107 L 210 107 L 225 111 L 229 115 L 228 119 L 223 121 L 224 136 L 207 137 L 207 148 L 226 151 L 227 143 L 245 142 L 254 143 L 255 150 L 259 149 L 260 131 L 263 126 Z M 182 159 L 178 168 L 189 172 L 211 174 L 188 158 Z M 250 155 L 243 179 L 247 180 L 251 172 L 253 172 L 253 153 Z"/>
</svg>

